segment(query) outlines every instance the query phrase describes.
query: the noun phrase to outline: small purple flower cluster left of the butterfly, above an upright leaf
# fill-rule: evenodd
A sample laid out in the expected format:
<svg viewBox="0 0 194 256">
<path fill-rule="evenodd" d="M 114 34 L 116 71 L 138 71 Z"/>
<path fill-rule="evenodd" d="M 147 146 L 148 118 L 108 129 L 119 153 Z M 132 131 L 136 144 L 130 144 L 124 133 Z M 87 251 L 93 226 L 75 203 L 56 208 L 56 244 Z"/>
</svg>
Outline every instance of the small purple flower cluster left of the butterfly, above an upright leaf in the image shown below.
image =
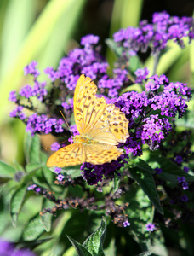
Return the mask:
<svg viewBox="0 0 194 256">
<path fill-rule="evenodd" d="M 45 114 L 38 115 L 37 113 L 33 113 L 28 117 L 26 131 L 31 131 L 31 136 L 36 132 L 48 134 L 53 130 L 60 133 L 64 131 L 62 124 L 64 124 L 63 119 L 48 119 Z"/>
</svg>

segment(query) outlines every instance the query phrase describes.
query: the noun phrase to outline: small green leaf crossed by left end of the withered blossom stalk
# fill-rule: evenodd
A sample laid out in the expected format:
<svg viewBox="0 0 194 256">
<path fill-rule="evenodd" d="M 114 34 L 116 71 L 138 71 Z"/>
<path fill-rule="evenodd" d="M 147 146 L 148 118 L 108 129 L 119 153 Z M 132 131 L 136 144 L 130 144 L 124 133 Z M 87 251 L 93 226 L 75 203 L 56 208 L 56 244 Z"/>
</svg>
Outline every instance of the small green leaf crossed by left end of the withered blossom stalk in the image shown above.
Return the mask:
<svg viewBox="0 0 194 256">
<path fill-rule="evenodd" d="M 54 202 L 49 201 L 47 198 L 43 198 L 42 209 L 52 208 L 52 207 L 54 207 Z M 49 212 L 46 212 L 46 213 L 40 215 L 40 218 L 41 218 L 41 222 L 43 224 L 44 230 L 49 232 L 51 229 L 51 220 L 53 218 L 52 214 L 50 214 Z"/>
</svg>

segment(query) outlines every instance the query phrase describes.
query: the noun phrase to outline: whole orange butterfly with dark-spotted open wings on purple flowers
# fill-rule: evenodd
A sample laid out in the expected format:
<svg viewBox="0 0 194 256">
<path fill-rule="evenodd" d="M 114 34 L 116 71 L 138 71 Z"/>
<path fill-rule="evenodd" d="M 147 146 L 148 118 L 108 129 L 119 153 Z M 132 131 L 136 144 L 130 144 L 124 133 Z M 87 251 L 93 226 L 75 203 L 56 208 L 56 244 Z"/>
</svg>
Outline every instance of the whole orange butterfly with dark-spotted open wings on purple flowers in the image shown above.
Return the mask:
<svg viewBox="0 0 194 256">
<path fill-rule="evenodd" d="M 102 165 L 123 154 L 117 144 L 125 143 L 129 137 L 128 119 L 114 104 L 107 104 L 104 97 L 96 97 L 96 91 L 93 80 L 81 75 L 73 99 L 80 135 L 73 137 L 74 143 L 52 154 L 48 167 L 76 166 L 83 162 Z"/>
</svg>

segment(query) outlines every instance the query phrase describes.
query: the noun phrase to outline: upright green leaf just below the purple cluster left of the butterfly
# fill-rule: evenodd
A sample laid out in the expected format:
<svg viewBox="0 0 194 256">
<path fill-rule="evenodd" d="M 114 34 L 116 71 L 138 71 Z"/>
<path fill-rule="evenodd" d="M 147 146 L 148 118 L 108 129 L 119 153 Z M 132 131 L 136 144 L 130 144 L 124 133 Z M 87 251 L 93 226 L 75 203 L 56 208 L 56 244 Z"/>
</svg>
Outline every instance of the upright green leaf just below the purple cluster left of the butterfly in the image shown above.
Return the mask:
<svg viewBox="0 0 194 256">
<path fill-rule="evenodd" d="M 26 134 L 25 154 L 27 163 L 40 163 L 40 140 L 36 135 Z"/>
</svg>

